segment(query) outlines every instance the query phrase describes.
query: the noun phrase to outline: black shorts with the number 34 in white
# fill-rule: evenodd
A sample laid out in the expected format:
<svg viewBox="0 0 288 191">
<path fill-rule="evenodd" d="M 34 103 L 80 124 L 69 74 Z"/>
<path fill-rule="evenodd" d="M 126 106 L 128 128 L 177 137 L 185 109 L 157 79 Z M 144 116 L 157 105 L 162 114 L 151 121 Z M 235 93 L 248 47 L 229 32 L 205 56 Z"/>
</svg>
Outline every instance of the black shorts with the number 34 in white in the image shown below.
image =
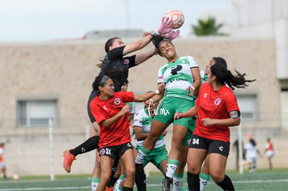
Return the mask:
<svg viewBox="0 0 288 191">
<path fill-rule="evenodd" d="M 230 142 L 224 142 L 223 140 L 210 140 L 192 134 L 189 148 L 205 149 L 208 153 L 219 153 L 227 157 L 230 151 Z"/>
</svg>

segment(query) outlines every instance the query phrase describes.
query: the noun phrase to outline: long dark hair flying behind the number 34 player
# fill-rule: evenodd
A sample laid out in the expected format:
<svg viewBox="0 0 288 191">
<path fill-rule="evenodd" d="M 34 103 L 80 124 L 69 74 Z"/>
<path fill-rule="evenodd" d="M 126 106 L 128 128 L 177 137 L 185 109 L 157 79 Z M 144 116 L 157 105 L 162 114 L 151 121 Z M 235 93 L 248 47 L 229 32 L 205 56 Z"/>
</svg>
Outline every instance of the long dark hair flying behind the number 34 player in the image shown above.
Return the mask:
<svg viewBox="0 0 288 191">
<path fill-rule="evenodd" d="M 225 83 L 234 90 L 235 88 L 246 88 L 248 83 L 256 81 L 246 80 L 246 73 L 241 74 L 235 69 L 236 75 L 233 75 L 229 69 L 227 69 L 226 60 L 221 57 L 214 57 L 213 60 L 216 61 L 214 65 L 210 67 L 211 75 L 216 76 L 216 82 L 224 85 Z"/>
</svg>

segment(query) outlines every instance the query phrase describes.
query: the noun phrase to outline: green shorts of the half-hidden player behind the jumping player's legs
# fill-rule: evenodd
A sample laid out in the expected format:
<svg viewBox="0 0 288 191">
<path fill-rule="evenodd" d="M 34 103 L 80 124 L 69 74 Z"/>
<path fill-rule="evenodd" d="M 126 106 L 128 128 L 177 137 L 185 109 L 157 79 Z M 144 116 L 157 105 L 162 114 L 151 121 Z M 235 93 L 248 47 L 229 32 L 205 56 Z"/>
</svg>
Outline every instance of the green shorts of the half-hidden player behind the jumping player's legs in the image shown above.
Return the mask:
<svg viewBox="0 0 288 191">
<path fill-rule="evenodd" d="M 140 149 L 140 146 L 137 145 L 136 149 L 138 151 Z M 168 152 L 164 144 L 162 147 L 154 148 L 149 153 L 149 155 L 145 158 L 143 162 L 143 166 L 145 167 L 148 163 L 152 163 L 153 165 L 155 165 L 155 167 L 157 167 L 162 172 L 160 163 L 165 159 L 168 159 Z"/>
</svg>

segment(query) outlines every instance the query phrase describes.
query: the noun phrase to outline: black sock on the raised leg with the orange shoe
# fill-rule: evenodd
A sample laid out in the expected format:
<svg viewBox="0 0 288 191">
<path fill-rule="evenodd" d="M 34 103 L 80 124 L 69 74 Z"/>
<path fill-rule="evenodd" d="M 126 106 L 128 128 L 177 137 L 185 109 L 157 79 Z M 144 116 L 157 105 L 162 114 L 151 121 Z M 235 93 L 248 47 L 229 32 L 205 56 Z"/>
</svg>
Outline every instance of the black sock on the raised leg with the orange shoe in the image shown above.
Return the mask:
<svg viewBox="0 0 288 191">
<path fill-rule="evenodd" d="M 78 154 L 86 153 L 94 149 L 97 149 L 98 144 L 99 144 L 99 136 L 93 136 L 92 138 L 86 140 L 86 142 L 80 144 L 75 149 L 70 150 L 70 153 L 72 153 L 72 155 L 74 156 L 77 156 Z"/>
</svg>

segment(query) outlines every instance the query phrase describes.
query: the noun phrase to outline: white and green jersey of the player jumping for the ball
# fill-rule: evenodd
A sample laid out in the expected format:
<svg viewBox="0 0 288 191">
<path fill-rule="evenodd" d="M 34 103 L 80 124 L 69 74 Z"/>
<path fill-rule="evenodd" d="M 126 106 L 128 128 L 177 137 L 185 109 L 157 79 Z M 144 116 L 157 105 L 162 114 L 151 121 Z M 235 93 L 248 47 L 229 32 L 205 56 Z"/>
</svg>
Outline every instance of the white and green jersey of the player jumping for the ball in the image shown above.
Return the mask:
<svg viewBox="0 0 288 191">
<path fill-rule="evenodd" d="M 158 83 L 166 83 L 166 96 L 193 100 L 186 91 L 193 84 L 191 68 L 199 67 L 192 56 L 181 56 L 158 70 Z"/>
</svg>

